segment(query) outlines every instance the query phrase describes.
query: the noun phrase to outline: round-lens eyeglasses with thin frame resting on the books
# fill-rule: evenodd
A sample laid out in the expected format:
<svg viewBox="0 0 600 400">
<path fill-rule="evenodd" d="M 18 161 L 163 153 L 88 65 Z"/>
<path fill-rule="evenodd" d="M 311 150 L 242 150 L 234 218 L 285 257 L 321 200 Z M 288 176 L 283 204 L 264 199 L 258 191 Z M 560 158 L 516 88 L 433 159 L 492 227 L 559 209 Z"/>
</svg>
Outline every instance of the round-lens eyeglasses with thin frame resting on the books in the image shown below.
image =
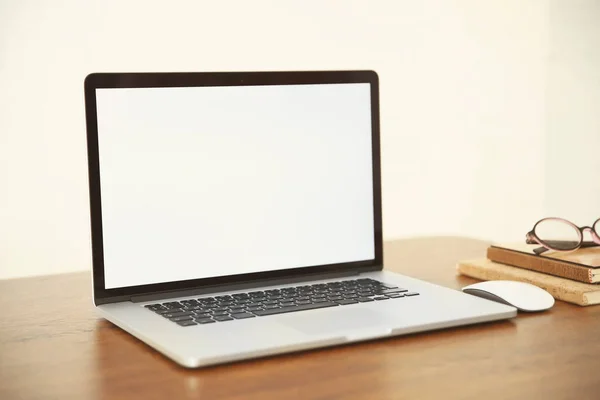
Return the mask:
<svg viewBox="0 0 600 400">
<path fill-rule="evenodd" d="M 592 241 L 584 241 L 583 233 L 589 231 Z M 527 233 L 528 244 L 540 244 L 533 250 L 542 254 L 547 250 L 573 251 L 582 247 L 600 246 L 600 218 L 592 226 L 577 226 L 562 218 L 544 218 L 536 222 L 533 229 Z"/>
</svg>

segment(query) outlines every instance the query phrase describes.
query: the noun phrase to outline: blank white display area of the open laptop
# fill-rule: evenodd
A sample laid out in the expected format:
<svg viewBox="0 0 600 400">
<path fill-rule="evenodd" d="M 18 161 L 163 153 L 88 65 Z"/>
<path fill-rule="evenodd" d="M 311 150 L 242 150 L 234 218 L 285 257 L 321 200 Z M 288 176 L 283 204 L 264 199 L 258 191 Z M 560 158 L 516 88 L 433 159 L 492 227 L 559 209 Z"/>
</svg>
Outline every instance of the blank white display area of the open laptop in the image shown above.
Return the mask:
<svg viewBox="0 0 600 400">
<path fill-rule="evenodd" d="M 375 257 L 368 83 L 96 102 L 107 289 Z"/>
</svg>

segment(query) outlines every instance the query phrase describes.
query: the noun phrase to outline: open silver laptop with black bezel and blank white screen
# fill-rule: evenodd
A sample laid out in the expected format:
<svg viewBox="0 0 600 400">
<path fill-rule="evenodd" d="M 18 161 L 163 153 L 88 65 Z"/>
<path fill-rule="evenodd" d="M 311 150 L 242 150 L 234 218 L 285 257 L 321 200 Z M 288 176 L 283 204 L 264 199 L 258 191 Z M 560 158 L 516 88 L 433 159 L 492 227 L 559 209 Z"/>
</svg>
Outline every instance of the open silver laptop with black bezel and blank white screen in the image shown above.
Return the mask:
<svg viewBox="0 0 600 400">
<path fill-rule="evenodd" d="M 88 75 L 100 315 L 188 368 L 514 317 L 385 269 L 378 82 Z"/>
</svg>

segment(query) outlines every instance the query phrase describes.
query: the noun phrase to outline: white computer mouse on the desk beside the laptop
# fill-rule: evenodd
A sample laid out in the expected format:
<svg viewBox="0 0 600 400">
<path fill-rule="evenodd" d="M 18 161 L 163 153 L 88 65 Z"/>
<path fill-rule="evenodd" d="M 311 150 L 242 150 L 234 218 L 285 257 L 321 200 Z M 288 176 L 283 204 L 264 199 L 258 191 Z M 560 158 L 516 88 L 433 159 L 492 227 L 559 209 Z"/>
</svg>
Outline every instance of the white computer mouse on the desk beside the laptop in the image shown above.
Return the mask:
<svg viewBox="0 0 600 400">
<path fill-rule="evenodd" d="M 518 281 L 486 281 L 462 288 L 463 292 L 516 307 L 520 311 L 552 308 L 554 297 L 542 288 Z"/>
</svg>

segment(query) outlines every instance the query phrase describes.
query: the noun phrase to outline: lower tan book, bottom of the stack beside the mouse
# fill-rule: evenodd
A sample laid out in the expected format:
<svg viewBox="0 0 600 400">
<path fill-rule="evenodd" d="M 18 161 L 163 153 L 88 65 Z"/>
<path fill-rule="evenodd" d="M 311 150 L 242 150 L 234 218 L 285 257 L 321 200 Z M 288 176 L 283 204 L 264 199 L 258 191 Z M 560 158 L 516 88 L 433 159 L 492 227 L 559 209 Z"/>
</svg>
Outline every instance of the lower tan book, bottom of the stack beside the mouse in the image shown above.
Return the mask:
<svg viewBox="0 0 600 400">
<path fill-rule="evenodd" d="M 546 290 L 557 300 L 580 306 L 600 304 L 600 285 L 576 282 L 541 272 L 512 267 L 487 258 L 460 261 L 456 268 L 461 275 L 484 281 L 510 280 L 530 283 Z"/>
</svg>

